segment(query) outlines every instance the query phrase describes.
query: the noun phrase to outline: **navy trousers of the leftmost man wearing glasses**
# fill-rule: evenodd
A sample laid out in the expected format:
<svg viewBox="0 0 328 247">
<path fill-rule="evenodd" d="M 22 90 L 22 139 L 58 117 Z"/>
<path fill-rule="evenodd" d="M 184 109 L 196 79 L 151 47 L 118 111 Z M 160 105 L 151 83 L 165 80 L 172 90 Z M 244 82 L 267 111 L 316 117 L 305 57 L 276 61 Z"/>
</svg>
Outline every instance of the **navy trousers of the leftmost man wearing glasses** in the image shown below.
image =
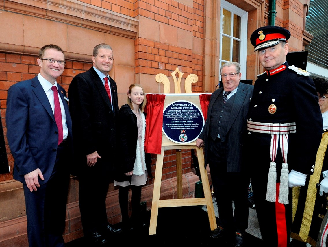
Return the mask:
<svg viewBox="0 0 328 247">
<path fill-rule="evenodd" d="M 68 147 L 58 146 L 55 166 L 49 181 L 37 191 L 30 191 L 23 184 L 27 234 L 31 247 L 63 247 L 66 202 L 69 184 L 67 167 Z"/>
</svg>

